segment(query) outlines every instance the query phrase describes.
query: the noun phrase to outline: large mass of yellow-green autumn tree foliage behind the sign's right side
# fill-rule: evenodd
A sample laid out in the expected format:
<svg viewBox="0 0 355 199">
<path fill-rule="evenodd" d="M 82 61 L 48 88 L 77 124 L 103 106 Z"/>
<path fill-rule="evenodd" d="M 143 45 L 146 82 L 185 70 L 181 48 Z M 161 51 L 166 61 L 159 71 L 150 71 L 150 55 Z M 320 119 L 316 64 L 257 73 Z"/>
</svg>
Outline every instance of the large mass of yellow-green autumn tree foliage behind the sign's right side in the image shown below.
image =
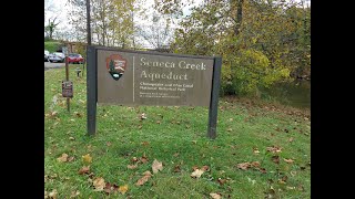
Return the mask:
<svg viewBox="0 0 355 199">
<path fill-rule="evenodd" d="M 161 13 L 179 11 L 159 7 Z M 255 95 L 260 87 L 310 67 L 307 14 L 286 1 L 204 1 L 181 21 L 171 48 L 176 53 L 222 55 L 222 92 Z"/>
</svg>

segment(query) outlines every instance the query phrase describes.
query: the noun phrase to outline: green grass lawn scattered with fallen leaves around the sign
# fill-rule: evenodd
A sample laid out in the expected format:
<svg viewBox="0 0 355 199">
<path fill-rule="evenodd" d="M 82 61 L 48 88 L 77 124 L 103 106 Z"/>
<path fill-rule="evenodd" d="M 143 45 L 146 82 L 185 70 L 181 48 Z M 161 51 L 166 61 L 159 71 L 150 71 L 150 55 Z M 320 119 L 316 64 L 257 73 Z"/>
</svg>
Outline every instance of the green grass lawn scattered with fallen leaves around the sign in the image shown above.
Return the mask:
<svg viewBox="0 0 355 199">
<path fill-rule="evenodd" d="M 70 113 L 64 69 L 44 71 L 48 198 L 311 198 L 310 111 L 223 97 L 211 140 L 206 107 L 98 106 L 90 137 L 85 77 L 74 69 Z M 162 163 L 156 174 L 154 159 Z"/>
</svg>

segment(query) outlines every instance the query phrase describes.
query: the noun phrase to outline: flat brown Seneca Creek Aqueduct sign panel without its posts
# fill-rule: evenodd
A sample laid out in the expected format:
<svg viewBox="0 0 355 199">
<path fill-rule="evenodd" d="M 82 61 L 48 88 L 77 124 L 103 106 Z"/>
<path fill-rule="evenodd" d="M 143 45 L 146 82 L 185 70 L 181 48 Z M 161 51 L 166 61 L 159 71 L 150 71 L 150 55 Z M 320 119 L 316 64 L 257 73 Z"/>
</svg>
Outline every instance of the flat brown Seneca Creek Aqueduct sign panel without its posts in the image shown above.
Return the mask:
<svg viewBox="0 0 355 199">
<path fill-rule="evenodd" d="M 213 59 L 98 50 L 98 103 L 209 106 Z"/>
</svg>

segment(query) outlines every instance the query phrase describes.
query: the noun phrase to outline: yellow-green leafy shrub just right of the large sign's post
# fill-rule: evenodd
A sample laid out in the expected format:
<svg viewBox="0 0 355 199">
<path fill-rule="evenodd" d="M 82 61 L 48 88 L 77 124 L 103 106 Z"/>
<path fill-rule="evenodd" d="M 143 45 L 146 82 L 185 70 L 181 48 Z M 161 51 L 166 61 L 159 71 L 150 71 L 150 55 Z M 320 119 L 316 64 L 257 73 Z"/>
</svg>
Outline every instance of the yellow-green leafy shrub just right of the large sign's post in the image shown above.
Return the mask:
<svg viewBox="0 0 355 199">
<path fill-rule="evenodd" d="M 260 87 L 268 87 L 290 76 L 290 70 L 271 65 L 266 55 L 253 49 L 240 50 L 223 59 L 222 95 L 257 96 Z"/>
</svg>

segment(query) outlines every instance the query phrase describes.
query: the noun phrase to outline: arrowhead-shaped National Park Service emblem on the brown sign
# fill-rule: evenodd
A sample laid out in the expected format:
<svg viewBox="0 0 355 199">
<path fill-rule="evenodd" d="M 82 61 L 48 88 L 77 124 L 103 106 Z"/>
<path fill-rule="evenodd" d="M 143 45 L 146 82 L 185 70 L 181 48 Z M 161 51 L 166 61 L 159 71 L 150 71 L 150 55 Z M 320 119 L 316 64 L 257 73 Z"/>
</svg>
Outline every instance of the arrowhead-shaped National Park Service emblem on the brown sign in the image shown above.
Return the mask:
<svg viewBox="0 0 355 199">
<path fill-rule="evenodd" d="M 118 81 L 122 77 L 126 69 L 126 60 L 120 54 L 112 54 L 111 56 L 106 57 L 106 69 L 113 80 Z"/>
</svg>

